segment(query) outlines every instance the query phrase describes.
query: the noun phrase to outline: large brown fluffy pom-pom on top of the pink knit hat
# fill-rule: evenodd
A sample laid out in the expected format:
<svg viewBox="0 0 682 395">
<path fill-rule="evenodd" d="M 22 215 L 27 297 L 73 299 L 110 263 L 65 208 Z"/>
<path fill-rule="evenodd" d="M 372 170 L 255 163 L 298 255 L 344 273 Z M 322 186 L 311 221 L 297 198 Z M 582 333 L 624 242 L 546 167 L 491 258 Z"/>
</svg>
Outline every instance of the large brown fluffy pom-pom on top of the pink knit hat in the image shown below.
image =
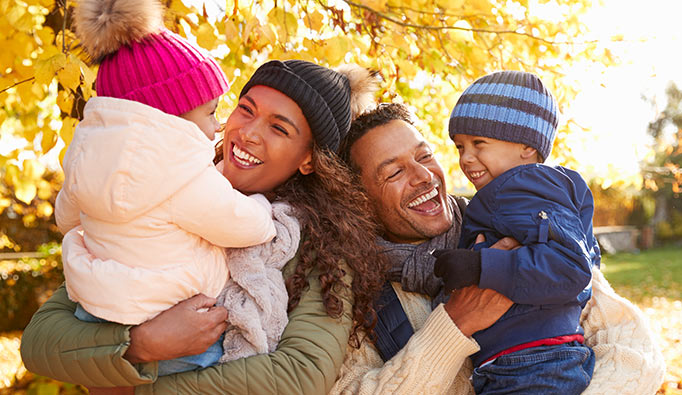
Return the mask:
<svg viewBox="0 0 682 395">
<path fill-rule="evenodd" d="M 156 0 L 81 0 L 74 12 L 78 38 L 100 62 L 124 45 L 163 27 L 163 7 Z"/>
</svg>

